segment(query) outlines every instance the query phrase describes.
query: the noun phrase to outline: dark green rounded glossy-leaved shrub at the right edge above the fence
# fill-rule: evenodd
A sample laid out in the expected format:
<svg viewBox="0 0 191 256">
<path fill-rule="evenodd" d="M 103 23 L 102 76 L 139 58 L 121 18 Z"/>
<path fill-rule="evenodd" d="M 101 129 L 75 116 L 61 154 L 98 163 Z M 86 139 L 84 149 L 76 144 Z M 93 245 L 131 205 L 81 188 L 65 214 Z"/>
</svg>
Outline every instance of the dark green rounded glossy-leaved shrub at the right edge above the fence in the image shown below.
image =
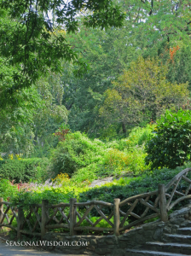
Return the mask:
<svg viewBox="0 0 191 256">
<path fill-rule="evenodd" d="M 191 111 L 166 113 L 157 121 L 155 136 L 146 144 L 146 164 L 151 168 L 182 166 L 191 158 Z"/>
</svg>

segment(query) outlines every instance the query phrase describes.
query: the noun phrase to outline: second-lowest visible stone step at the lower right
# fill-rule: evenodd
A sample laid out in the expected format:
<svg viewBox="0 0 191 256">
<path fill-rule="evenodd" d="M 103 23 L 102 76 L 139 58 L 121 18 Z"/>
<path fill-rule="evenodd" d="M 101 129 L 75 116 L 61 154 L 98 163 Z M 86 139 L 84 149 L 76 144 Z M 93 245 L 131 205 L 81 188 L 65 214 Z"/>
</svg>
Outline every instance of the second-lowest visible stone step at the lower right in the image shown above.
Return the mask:
<svg viewBox="0 0 191 256">
<path fill-rule="evenodd" d="M 191 255 L 191 245 L 187 243 L 148 241 L 144 245 L 144 248 L 157 252 Z"/>
</svg>

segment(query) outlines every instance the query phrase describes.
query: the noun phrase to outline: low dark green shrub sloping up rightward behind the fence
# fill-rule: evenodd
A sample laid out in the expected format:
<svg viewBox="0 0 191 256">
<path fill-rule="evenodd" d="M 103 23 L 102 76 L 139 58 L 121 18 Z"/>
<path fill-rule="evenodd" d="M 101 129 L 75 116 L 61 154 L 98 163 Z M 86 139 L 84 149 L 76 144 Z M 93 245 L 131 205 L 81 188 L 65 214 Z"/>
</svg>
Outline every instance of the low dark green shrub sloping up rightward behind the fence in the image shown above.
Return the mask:
<svg viewBox="0 0 191 256">
<path fill-rule="evenodd" d="M 120 201 L 124 201 L 124 199 L 133 196 L 139 195 L 142 193 L 150 192 L 155 189 L 158 189 L 159 183 L 167 184 L 171 181 L 173 177 L 177 175 L 177 173 L 181 172 L 183 169 L 191 167 L 191 163 L 188 163 L 186 166 L 177 167 L 174 170 L 164 168 L 162 170 L 154 170 L 152 172 L 146 172 L 142 177 L 134 177 L 133 180 L 126 180 L 126 184 L 105 184 L 101 187 L 96 187 L 85 191 L 79 195 L 79 201 L 106 201 L 113 203 L 114 198 L 119 198 Z M 188 183 L 181 183 L 177 190 L 185 190 L 188 187 Z M 151 197 L 149 200 L 154 201 L 155 196 Z M 180 204 L 185 204 L 185 201 L 182 201 Z M 180 205 L 179 205 L 180 206 Z M 145 207 L 142 204 L 137 204 L 134 212 L 136 214 L 141 214 Z M 122 211 L 125 211 L 122 208 Z M 104 211 L 103 211 L 104 212 Z M 94 211 L 96 216 L 96 211 Z M 107 210 L 105 211 L 107 212 Z"/>
</svg>

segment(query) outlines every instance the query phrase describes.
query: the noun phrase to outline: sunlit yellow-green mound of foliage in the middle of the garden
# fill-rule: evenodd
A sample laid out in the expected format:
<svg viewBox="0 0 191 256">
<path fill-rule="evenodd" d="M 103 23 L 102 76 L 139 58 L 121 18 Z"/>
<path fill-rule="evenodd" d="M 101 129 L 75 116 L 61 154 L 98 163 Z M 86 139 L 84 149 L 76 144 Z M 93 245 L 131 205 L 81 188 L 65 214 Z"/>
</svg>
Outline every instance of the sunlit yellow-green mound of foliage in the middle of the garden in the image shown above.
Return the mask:
<svg viewBox="0 0 191 256">
<path fill-rule="evenodd" d="M 152 125 L 134 129 L 129 139 L 103 143 L 80 132 L 67 134 L 66 139 L 52 151 L 52 173 L 67 173 L 74 181 L 94 180 L 96 177 L 136 175 L 148 167 L 143 144 L 148 141 Z"/>
</svg>

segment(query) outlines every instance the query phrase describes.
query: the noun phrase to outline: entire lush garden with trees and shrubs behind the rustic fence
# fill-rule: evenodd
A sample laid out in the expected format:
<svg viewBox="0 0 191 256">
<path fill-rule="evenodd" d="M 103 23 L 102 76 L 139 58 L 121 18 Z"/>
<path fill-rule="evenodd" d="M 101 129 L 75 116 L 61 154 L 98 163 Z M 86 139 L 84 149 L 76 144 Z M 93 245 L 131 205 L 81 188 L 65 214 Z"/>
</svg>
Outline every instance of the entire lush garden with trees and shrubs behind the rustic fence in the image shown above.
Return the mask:
<svg viewBox="0 0 191 256">
<path fill-rule="evenodd" d="M 0 0 L 3 229 L 122 234 L 191 168 L 188 3 L 127 2 Z"/>
</svg>

